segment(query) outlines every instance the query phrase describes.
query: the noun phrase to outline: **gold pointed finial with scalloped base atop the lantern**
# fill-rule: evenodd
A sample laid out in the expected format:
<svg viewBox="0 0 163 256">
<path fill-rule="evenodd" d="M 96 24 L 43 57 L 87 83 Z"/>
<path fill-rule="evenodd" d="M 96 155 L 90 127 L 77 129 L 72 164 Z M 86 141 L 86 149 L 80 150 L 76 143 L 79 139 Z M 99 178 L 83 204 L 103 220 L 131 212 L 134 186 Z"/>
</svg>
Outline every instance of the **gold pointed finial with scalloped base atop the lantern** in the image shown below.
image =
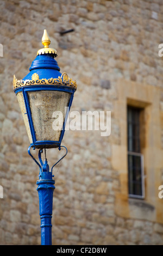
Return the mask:
<svg viewBox="0 0 163 256">
<path fill-rule="evenodd" d="M 45 53 L 52 53 L 52 54 L 54 54 L 54 57 L 57 57 L 57 51 L 54 48 L 49 48 L 49 44 L 51 44 L 51 40 L 49 39 L 46 29 L 44 29 L 44 31 L 43 31 L 42 44 L 43 44 L 44 48 L 41 48 L 39 51 L 37 51 L 37 55 L 45 54 Z"/>
</svg>

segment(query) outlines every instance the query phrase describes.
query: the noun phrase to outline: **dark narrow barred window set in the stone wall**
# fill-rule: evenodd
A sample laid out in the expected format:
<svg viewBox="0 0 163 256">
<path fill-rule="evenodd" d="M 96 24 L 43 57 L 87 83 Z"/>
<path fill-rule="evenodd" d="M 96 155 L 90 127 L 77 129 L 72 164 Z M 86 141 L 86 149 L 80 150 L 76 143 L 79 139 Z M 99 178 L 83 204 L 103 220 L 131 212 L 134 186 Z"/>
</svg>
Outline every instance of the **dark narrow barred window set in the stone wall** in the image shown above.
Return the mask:
<svg viewBox="0 0 163 256">
<path fill-rule="evenodd" d="M 128 106 L 128 188 L 129 196 L 144 198 L 143 155 L 140 142 L 140 115 L 142 109 Z"/>
</svg>

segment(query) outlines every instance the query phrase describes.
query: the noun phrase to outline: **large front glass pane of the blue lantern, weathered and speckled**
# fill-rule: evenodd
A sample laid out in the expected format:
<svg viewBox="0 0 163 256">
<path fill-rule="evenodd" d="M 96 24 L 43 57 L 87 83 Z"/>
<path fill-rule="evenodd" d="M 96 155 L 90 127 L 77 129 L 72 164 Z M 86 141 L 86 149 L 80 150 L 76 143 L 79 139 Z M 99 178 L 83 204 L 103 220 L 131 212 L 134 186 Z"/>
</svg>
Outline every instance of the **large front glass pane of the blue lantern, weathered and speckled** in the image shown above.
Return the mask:
<svg viewBox="0 0 163 256">
<path fill-rule="evenodd" d="M 59 141 L 70 97 L 70 93 L 59 91 L 28 92 L 37 141 Z"/>
</svg>

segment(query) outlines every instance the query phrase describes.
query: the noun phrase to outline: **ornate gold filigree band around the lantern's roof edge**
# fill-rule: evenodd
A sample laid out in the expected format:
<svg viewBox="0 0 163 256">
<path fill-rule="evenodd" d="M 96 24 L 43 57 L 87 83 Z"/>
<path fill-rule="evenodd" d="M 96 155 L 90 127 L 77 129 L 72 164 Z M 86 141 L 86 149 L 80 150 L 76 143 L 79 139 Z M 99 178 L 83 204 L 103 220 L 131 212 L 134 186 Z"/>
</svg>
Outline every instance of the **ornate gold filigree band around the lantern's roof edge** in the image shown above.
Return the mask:
<svg viewBox="0 0 163 256">
<path fill-rule="evenodd" d="M 34 73 L 32 75 L 32 80 L 17 80 L 14 75 L 14 80 L 13 80 L 14 90 L 18 87 L 36 86 L 36 85 L 38 86 L 39 85 L 69 86 L 74 89 L 77 89 L 77 82 L 72 81 L 72 79 L 68 77 L 66 72 L 64 72 L 58 78 L 49 78 L 49 79 L 46 79 L 46 78 L 40 79 L 39 75 Z"/>
</svg>

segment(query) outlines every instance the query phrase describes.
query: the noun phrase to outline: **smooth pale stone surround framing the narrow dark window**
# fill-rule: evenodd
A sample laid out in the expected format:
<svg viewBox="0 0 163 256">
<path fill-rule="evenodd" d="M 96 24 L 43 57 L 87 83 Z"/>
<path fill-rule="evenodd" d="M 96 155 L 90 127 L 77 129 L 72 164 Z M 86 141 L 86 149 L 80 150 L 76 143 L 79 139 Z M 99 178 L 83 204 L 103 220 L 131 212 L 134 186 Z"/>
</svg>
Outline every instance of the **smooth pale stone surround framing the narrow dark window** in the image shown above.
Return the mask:
<svg viewBox="0 0 163 256">
<path fill-rule="evenodd" d="M 118 97 L 114 102 L 114 117 L 120 125 L 120 144 L 112 144 L 112 168 L 120 175 L 120 191 L 116 192 L 115 212 L 118 216 L 163 223 L 163 200 L 158 197 L 163 166 L 161 148 L 160 96 L 162 89 L 148 84 L 117 81 Z M 145 111 L 145 147 L 142 154 L 145 165 L 145 199 L 128 196 L 127 166 L 127 105 L 142 107 Z"/>
</svg>

